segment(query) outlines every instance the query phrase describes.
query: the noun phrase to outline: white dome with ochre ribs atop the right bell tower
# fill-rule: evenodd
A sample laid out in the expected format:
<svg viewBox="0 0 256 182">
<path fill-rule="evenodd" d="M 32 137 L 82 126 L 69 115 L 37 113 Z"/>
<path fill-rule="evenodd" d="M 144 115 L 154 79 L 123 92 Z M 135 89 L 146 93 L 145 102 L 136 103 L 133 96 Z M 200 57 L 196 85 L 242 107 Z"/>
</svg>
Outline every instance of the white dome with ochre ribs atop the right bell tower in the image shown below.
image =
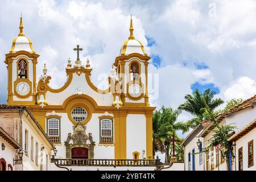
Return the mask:
<svg viewBox="0 0 256 182">
<path fill-rule="evenodd" d="M 141 53 L 142 55 L 147 55 L 142 43 L 136 39 L 126 40 L 120 50 L 120 55 L 129 55 L 130 53 Z"/>
</svg>

